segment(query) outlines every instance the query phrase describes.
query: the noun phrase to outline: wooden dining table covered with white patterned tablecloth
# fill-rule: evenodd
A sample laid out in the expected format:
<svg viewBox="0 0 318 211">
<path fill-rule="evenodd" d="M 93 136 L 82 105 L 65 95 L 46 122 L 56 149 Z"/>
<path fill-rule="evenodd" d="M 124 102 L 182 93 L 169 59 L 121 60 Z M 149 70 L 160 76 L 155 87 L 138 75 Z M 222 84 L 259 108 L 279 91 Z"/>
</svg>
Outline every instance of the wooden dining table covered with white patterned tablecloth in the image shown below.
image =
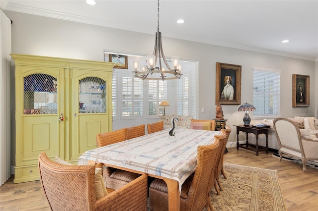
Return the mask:
<svg viewBox="0 0 318 211">
<path fill-rule="evenodd" d="M 103 163 L 135 173 L 163 179 L 168 188 L 169 211 L 180 210 L 181 185 L 197 165 L 197 147 L 211 145 L 220 131 L 170 129 L 146 134 L 86 151 L 79 164 Z"/>
</svg>

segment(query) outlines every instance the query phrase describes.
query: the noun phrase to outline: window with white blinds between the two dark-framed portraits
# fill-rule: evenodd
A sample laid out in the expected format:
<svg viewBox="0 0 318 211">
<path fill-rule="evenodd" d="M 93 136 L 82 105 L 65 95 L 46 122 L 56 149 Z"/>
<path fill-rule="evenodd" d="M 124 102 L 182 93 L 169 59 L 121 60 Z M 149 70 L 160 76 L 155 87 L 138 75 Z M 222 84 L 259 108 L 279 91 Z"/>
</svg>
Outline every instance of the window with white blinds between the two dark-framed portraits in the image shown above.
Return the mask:
<svg viewBox="0 0 318 211">
<path fill-rule="evenodd" d="M 280 70 L 253 68 L 254 117 L 280 116 Z"/>
</svg>

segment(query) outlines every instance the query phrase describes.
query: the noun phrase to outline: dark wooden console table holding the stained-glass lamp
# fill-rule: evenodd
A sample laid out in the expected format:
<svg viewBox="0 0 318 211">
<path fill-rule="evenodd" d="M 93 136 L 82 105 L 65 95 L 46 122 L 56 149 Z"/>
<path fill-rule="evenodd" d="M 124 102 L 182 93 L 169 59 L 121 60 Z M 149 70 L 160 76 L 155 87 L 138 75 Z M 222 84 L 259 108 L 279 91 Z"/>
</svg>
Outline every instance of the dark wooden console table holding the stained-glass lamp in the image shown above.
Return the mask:
<svg viewBox="0 0 318 211">
<path fill-rule="evenodd" d="M 264 127 L 255 127 L 255 126 L 244 126 L 244 125 L 234 125 L 237 127 L 237 136 L 238 136 L 238 142 L 237 142 L 237 150 L 239 150 L 239 147 L 251 150 L 256 152 L 256 156 L 258 156 L 259 151 L 266 150 L 266 154 L 268 154 L 268 129 L 270 127 L 264 128 Z M 245 144 L 239 144 L 239 131 L 246 133 L 246 143 Z M 248 144 L 248 133 L 253 133 L 256 136 L 256 144 Z M 266 136 L 266 146 L 258 146 L 258 135 L 259 134 L 265 134 Z M 249 146 L 253 146 L 249 147 Z M 254 148 L 255 147 L 255 148 Z"/>
</svg>

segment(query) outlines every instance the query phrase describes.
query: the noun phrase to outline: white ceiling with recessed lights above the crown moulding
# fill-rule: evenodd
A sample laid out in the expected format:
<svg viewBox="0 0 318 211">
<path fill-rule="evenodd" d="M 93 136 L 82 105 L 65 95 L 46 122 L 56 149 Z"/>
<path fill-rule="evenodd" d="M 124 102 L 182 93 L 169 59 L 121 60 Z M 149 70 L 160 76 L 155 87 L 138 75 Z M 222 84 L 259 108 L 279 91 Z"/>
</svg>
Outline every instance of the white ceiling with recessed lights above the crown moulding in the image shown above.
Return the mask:
<svg viewBox="0 0 318 211">
<path fill-rule="evenodd" d="M 3 10 L 154 37 L 157 32 L 157 0 L 96 0 L 95 5 L 85 0 L 0 3 Z M 159 15 L 163 37 L 318 61 L 318 0 L 160 0 Z M 185 22 L 177 24 L 178 19 Z"/>
</svg>

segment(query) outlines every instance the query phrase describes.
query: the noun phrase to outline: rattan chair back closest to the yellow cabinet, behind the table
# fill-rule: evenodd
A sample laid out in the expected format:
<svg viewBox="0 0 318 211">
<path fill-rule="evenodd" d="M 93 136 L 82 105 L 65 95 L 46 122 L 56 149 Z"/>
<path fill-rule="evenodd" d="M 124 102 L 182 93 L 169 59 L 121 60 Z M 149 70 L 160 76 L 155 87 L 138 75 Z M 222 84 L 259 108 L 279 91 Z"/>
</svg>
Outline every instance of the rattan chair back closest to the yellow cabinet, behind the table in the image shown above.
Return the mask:
<svg viewBox="0 0 318 211">
<path fill-rule="evenodd" d="M 114 130 L 96 135 L 97 147 L 118 143 L 126 140 L 127 128 Z"/>
</svg>

